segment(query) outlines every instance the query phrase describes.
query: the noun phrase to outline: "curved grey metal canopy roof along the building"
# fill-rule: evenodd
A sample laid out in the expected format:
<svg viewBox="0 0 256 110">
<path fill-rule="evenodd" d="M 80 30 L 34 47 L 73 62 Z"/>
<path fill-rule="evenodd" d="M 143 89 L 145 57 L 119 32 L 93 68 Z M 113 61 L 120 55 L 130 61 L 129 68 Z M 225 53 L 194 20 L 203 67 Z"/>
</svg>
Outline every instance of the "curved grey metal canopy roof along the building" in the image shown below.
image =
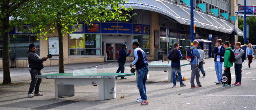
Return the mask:
<svg viewBox="0 0 256 110">
<path fill-rule="evenodd" d="M 190 25 L 190 8 L 173 4 L 165 0 L 129 0 L 124 4 L 126 8 L 144 9 L 161 13 L 173 18 L 180 24 Z M 233 24 L 227 20 L 210 16 L 201 11 L 194 11 L 194 24 L 196 27 L 220 31 L 231 34 L 233 32 Z M 243 31 L 235 27 L 235 31 L 239 36 L 243 36 Z"/>
</svg>

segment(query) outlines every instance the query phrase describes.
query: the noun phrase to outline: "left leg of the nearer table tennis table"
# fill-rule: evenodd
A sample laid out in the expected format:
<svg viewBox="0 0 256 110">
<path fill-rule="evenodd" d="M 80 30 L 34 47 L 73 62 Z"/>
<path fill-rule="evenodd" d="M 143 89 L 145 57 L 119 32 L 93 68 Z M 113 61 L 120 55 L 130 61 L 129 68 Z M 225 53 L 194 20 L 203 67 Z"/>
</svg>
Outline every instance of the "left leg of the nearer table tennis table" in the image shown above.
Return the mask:
<svg viewBox="0 0 256 110">
<path fill-rule="evenodd" d="M 75 85 L 59 84 L 58 79 L 55 79 L 55 99 L 58 97 L 74 96 Z"/>
</svg>

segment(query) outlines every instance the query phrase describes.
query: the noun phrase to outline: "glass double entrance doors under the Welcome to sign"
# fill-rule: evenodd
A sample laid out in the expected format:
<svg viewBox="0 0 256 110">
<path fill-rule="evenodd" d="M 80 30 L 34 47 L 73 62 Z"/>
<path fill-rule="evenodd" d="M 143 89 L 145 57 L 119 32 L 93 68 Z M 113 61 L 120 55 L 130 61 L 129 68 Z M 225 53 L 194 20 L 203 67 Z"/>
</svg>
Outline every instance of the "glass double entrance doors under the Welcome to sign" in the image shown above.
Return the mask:
<svg viewBox="0 0 256 110">
<path fill-rule="evenodd" d="M 105 51 L 107 61 L 117 61 L 119 50 L 122 49 L 123 43 L 106 43 Z"/>
</svg>

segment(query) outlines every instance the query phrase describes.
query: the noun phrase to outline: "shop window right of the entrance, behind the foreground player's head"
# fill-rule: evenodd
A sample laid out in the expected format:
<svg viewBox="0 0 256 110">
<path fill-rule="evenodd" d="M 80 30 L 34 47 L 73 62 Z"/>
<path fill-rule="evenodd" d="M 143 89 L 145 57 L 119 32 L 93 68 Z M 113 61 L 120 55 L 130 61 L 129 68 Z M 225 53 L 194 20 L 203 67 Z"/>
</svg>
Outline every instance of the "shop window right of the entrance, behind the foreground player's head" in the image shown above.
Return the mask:
<svg viewBox="0 0 256 110">
<path fill-rule="evenodd" d="M 143 49 L 146 55 L 150 55 L 149 35 L 133 35 L 133 40 L 139 42 L 139 48 Z"/>
</svg>

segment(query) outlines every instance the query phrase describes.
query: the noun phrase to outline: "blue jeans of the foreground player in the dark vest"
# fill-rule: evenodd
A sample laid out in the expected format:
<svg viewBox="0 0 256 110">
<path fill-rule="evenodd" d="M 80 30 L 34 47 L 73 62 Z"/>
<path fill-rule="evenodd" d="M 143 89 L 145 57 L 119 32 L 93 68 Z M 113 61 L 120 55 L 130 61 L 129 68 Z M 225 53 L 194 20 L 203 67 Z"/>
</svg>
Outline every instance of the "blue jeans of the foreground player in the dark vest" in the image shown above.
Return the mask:
<svg viewBox="0 0 256 110">
<path fill-rule="evenodd" d="M 139 89 L 139 94 L 141 96 L 141 99 L 143 100 L 147 100 L 146 81 L 147 81 L 148 72 L 149 72 L 149 66 L 145 66 L 137 70 L 137 87 Z"/>
</svg>

